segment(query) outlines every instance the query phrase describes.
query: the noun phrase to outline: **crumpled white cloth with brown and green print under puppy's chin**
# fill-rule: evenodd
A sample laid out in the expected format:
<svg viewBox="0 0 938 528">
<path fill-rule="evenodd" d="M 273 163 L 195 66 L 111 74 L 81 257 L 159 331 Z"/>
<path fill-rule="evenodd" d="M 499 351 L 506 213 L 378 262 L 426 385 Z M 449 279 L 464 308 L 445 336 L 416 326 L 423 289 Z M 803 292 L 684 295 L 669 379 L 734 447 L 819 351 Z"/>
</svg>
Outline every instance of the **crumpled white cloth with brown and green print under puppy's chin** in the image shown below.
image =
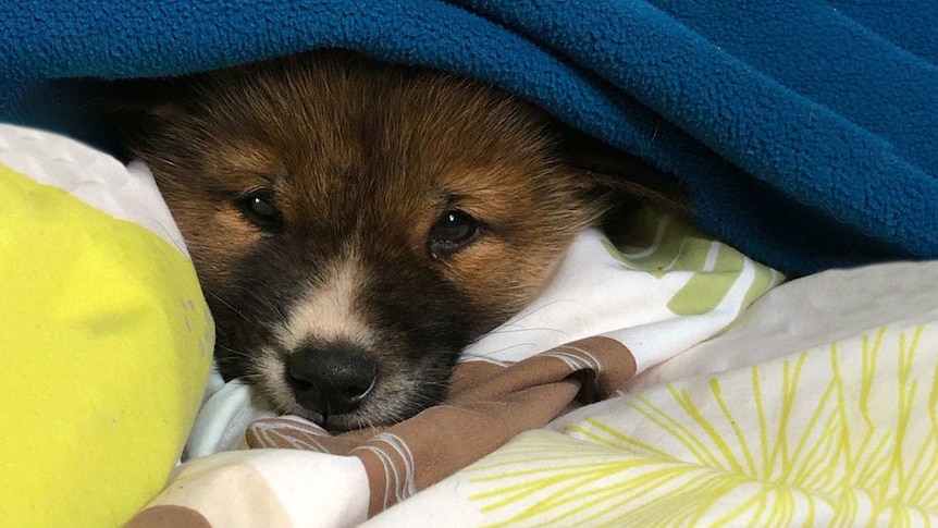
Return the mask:
<svg viewBox="0 0 938 528">
<path fill-rule="evenodd" d="M 157 511 L 182 515 L 178 507 L 212 526 L 250 526 L 269 509 L 288 519 L 284 526 L 362 520 L 517 434 L 617 396 L 637 372 L 724 331 L 781 281 L 671 216 L 644 209 L 622 225 L 582 233 L 541 295 L 465 352 L 451 397 L 402 423 L 330 435 L 297 417 L 272 417 L 237 380 L 212 384 L 189 438 L 193 462 L 133 526 L 148 526 Z M 212 455 L 246 447 L 287 450 Z M 291 461 L 317 467 L 314 478 L 284 475 Z M 220 500 L 232 493 L 257 502 Z M 320 509 L 333 517 L 309 516 Z"/>
</svg>

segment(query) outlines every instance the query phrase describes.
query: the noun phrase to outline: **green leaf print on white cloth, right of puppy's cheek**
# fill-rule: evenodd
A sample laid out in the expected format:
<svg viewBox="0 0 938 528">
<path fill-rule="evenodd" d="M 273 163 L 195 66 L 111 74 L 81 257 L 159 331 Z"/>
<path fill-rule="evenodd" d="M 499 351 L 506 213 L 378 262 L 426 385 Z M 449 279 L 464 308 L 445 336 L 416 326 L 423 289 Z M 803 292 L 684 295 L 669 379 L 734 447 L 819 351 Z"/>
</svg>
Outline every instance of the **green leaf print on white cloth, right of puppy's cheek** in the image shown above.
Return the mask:
<svg viewBox="0 0 938 528">
<path fill-rule="evenodd" d="M 622 228 L 625 231 L 617 231 Z M 743 308 L 781 279 L 770 268 L 749 260 L 689 223 L 653 209 L 641 209 L 607 232 L 606 250 L 630 270 L 647 271 L 658 279 L 675 271 L 694 272 L 668 302 L 668 309 L 678 316 L 714 310 L 740 279 L 746 263 L 754 266 L 755 277 Z"/>
</svg>

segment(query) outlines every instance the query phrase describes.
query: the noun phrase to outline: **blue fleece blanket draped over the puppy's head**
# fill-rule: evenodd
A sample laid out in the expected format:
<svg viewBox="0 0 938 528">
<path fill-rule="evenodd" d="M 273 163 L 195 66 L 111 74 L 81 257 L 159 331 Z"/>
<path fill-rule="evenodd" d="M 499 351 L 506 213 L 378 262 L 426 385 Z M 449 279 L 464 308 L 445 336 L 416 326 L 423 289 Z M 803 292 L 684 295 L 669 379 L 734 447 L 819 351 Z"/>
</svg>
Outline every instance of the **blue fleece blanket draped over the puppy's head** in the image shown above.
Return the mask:
<svg viewBox="0 0 938 528">
<path fill-rule="evenodd" d="M 677 175 L 698 221 L 807 273 L 938 258 L 938 2 L 22 0 L 0 121 L 99 133 L 55 79 L 343 47 L 480 77 Z"/>
</svg>

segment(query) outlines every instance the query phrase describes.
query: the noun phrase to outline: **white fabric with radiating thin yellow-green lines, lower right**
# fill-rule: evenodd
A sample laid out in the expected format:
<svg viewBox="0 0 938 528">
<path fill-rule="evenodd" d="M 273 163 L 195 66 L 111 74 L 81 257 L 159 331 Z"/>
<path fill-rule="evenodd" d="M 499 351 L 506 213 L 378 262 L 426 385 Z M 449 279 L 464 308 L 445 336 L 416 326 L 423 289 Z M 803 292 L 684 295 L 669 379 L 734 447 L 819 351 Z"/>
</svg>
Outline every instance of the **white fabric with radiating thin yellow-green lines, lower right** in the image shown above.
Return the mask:
<svg viewBox="0 0 938 528">
<path fill-rule="evenodd" d="M 934 323 L 884 327 L 624 397 L 616 422 L 531 431 L 470 466 L 469 499 L 493 527 L 928 526 L 936 347 Z"/>
</svg>

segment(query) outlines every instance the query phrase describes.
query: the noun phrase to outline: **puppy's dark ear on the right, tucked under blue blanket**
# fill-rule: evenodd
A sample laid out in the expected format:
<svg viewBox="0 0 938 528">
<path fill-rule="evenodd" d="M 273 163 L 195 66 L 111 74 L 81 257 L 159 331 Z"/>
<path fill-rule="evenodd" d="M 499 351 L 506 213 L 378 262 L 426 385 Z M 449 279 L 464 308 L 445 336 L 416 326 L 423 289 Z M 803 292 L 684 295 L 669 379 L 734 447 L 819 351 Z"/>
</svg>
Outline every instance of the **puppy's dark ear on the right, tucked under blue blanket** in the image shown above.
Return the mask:
<svg viewBox="0 0 938 528">
<path fill-rule="evenodd" d="M 564 138 L 564 157 L 581 173 L 579 182 L 590 195 L 612 195 L 617 205 L 646 202 L 686 217 L 693 212 L 687 189 L 674 176 L 580 132 L 565 131 Z"/>
</svg>

